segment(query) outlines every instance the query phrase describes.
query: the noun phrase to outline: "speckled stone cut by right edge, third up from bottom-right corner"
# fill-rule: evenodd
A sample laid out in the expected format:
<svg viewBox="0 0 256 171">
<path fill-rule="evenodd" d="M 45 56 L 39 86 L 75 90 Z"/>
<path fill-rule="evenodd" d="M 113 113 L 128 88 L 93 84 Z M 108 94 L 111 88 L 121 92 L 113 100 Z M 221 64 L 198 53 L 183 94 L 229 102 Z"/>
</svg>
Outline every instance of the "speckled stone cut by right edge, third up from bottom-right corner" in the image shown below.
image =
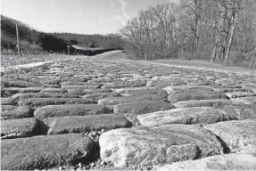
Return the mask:
<svg viewBox="0 0 256 171">
<path fill-rule="evenodd" d="M 256 119 L 256 105 L 230 105 L 224 110 L 236 120 Z"/>
</svg>

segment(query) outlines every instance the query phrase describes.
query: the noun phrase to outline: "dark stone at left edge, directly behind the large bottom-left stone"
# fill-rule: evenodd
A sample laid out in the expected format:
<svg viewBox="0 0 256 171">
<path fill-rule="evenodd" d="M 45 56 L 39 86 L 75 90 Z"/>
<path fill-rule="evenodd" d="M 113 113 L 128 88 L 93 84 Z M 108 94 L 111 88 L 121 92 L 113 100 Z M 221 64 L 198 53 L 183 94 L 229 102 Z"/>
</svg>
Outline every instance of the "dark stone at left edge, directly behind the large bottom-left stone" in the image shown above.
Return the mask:
<svg viewBox="0 0 256 171">
<path fill-rule="evenodd" d="M 36 118 L 18 118 L 1 121 L 1 136 L 16 134 L 16 137 L 27 137 L 39 134 L 39 123 Z"/>
</svg>

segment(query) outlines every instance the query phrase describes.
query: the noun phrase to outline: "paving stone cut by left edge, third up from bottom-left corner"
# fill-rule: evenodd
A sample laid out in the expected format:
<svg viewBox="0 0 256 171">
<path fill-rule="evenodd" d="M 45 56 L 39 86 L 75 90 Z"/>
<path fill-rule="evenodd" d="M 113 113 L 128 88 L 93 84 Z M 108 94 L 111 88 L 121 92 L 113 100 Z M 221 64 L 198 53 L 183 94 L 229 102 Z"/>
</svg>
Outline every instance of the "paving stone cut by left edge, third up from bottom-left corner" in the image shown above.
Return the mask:
<svg viewBox="0 0 256 171">
<path fill-rule="evenodd" d="M 1 117 L 4 119 L 33 117 L 33 110 L 29 106 L 2 105 L 1 107 Z"/>
</svg>

